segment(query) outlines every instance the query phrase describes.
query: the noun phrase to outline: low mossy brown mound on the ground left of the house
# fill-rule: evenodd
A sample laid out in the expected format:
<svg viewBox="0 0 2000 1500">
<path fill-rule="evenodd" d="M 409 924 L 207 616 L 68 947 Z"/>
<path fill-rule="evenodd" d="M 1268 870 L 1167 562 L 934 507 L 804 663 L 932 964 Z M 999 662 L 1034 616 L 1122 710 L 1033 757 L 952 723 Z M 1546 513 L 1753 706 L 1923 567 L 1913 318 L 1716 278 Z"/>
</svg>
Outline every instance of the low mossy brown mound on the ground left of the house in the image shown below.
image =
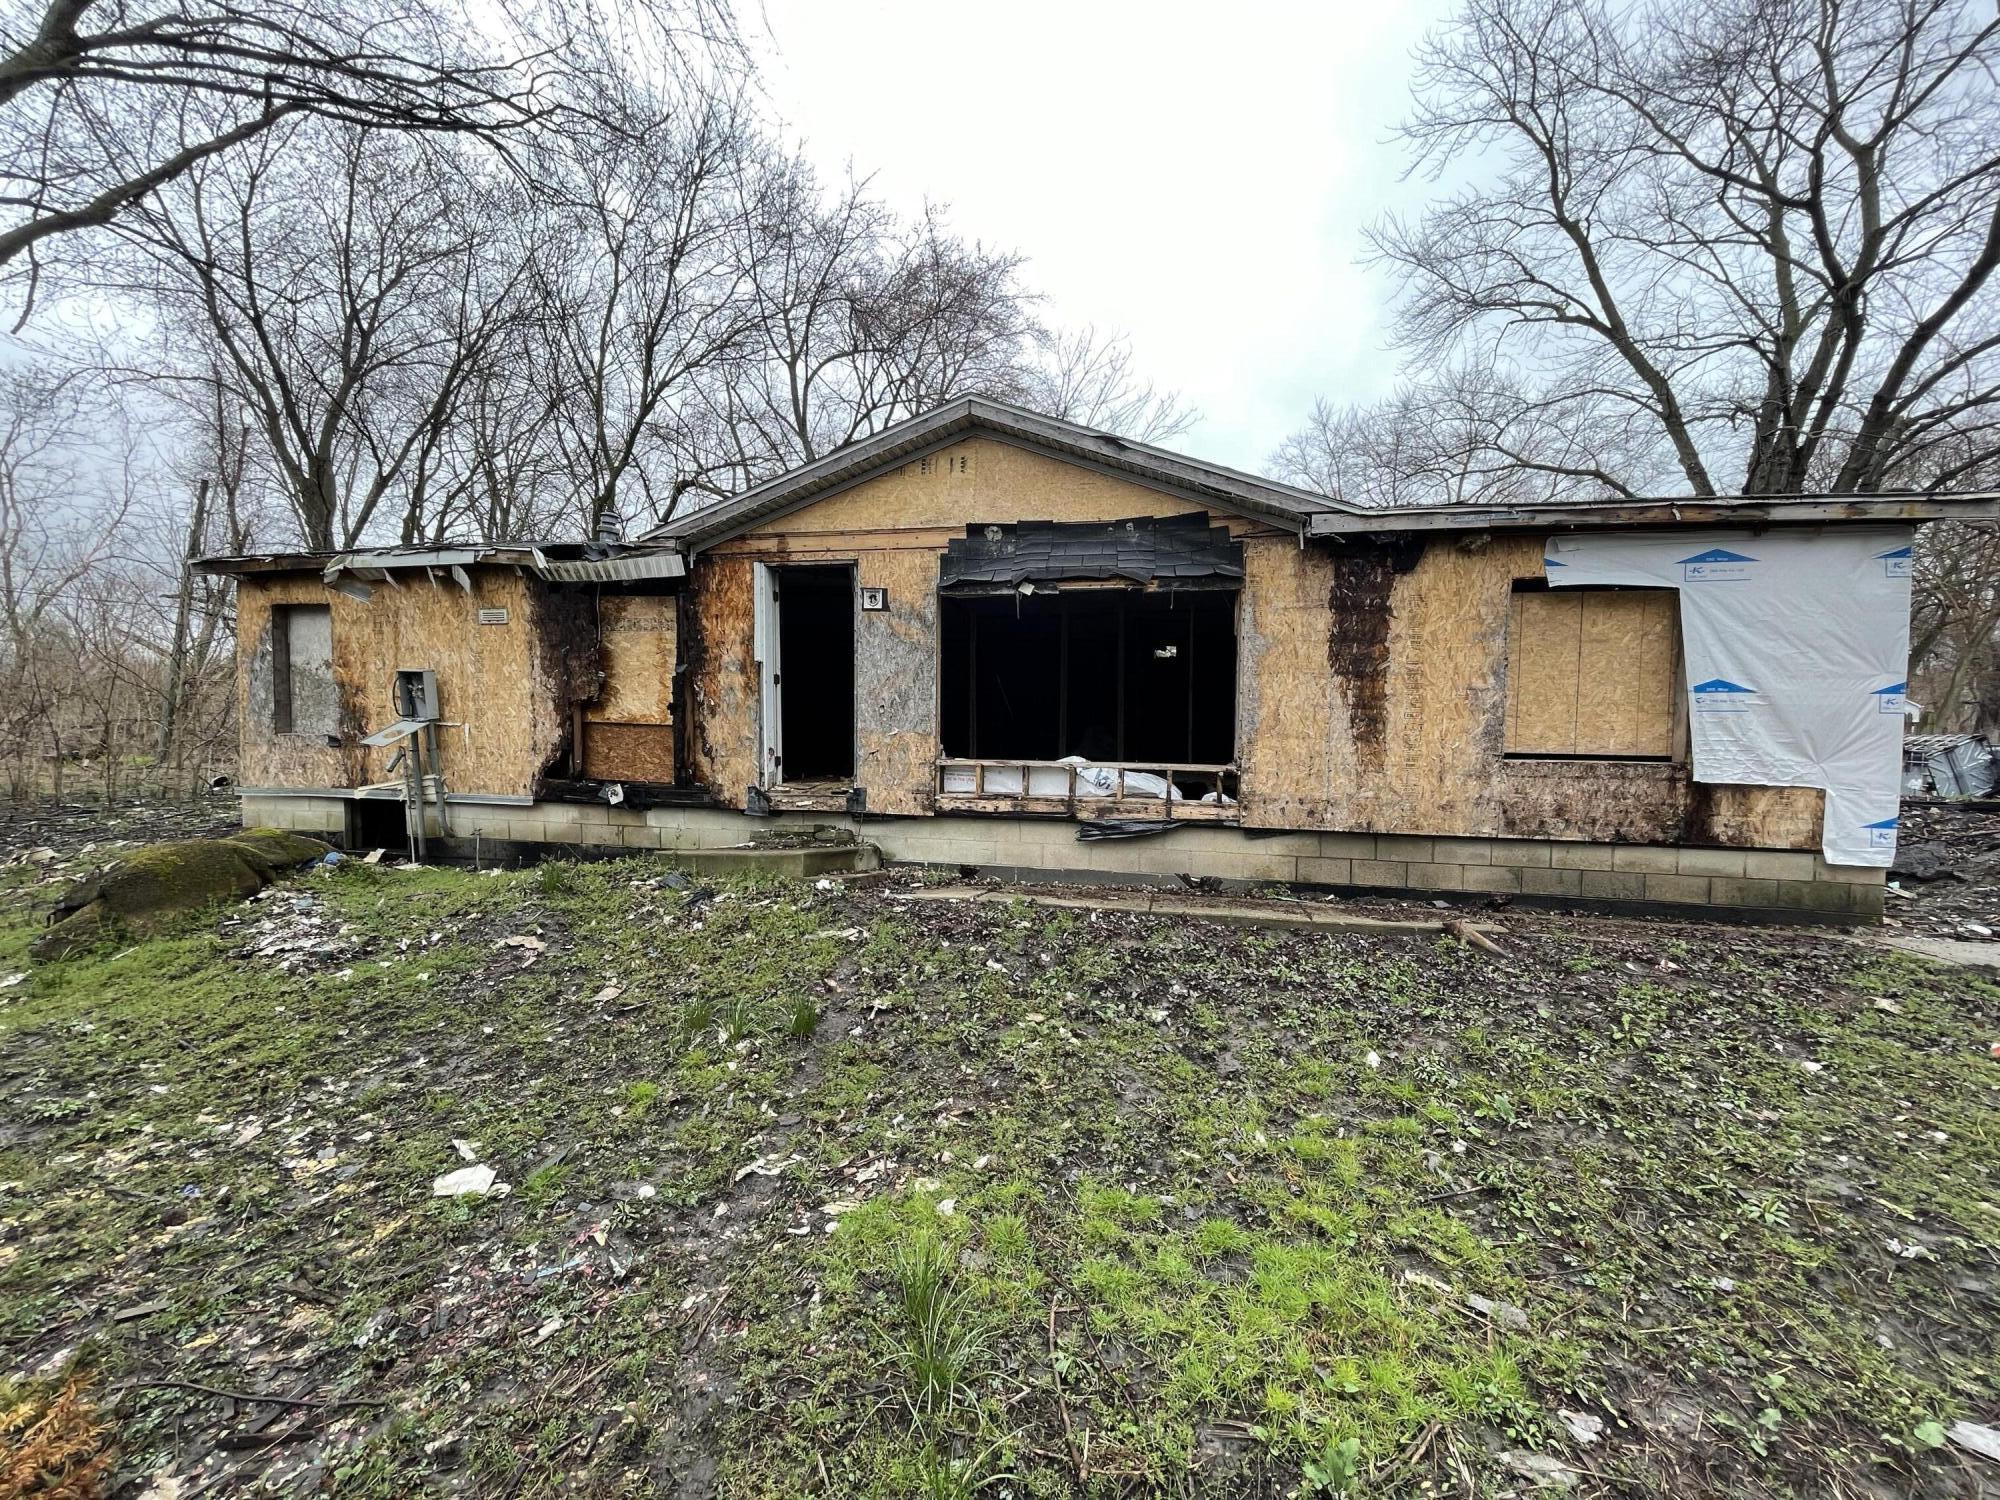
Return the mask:
<svg viewBox="0 0 2000 1500">
<path fill-rule="evenodd" d="M 280 870 L 316 860 L 328 848 L 284 828 L 146 844 L 70 886 L 48 914 L 34 956 L 66 958 L 102 938 L 144 932 L 176 912 L 254 896 Z"/>
</svg>

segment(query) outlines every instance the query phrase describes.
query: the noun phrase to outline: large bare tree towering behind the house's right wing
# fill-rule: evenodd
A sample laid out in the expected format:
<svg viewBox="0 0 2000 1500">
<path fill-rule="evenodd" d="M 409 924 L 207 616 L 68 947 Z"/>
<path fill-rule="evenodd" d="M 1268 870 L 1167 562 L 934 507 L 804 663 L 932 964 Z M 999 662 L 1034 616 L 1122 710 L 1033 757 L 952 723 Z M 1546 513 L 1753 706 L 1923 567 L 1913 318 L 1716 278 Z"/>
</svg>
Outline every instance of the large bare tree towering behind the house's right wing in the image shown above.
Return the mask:
<svg viewBox="0 0 2000 1500">
<path fill-rule="evenodd" d="M 2000 402 L 1996 64 L 1958 0 L 1468 0 L 1404 136 L 1470 186 L 1374 232 L 1402 344 L 1522 372 L 1466 436 L 1552 484 L 1882 488 Z"/>
</svg>

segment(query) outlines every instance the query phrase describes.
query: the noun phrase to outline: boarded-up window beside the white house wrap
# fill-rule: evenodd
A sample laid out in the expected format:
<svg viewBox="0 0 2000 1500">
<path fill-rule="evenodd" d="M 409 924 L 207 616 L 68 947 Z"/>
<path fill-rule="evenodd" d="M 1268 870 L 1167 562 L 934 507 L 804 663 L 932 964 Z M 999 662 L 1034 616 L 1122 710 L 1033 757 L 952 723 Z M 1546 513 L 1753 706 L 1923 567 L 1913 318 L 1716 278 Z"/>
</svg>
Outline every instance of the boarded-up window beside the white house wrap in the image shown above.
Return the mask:
<svg viewBox="0 0 2000 1500">
<path fill-rule="evenodd" d="M 1508 754 L 1672 756 L 1676 602 L 1670 588 L 1516 592 Z"/>
</svg>

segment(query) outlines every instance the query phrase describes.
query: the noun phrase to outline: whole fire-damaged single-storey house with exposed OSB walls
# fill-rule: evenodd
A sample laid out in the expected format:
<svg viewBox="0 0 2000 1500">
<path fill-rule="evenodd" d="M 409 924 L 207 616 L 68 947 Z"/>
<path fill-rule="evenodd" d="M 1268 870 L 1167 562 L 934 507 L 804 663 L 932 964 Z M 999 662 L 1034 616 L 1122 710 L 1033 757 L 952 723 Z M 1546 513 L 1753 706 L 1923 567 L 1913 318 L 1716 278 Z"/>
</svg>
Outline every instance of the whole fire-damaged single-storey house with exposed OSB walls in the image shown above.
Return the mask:
<svg viewBox="0 0 2000 1500">
<path fill-rule="evenodd" d="M 618 544 L 242 556 L 244 822 L 1870 918 L 1910 542 L 1990 498 L 1358 508 L 956 400 Z"/>
</svg>

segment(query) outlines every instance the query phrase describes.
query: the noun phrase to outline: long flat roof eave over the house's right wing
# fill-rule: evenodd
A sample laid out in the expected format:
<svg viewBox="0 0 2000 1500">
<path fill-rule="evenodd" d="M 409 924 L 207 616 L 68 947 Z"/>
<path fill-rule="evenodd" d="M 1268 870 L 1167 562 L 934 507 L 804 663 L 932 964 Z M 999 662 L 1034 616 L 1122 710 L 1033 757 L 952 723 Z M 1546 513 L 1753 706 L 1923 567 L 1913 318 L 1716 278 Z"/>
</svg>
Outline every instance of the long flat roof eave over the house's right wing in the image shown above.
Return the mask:
<svg viewBox="0 0 2000 1500">
<path fill-rule="evenodd" d="M 1828 526 L 1840 522 L 1992 520 L 2000 494 L 1802 494 L 1702 500 L 1590 500 L 1566 506 L 1434 506 L 1322 512 L 1308 536 L 1368 532 L 1584 530 L 1596 526 Z"/>
</svg>

